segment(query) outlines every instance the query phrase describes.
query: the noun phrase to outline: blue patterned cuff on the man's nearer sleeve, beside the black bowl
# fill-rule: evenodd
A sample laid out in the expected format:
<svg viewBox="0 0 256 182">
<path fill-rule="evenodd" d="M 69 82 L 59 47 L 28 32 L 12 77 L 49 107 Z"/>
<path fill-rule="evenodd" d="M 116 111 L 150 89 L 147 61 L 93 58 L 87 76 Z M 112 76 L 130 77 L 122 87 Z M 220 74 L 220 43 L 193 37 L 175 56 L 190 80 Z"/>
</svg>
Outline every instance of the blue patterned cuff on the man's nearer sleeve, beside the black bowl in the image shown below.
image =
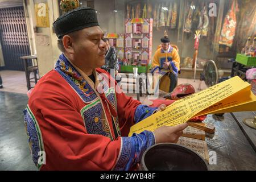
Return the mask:
<svg viewBox="0 0 256 182">
<path fill-rule="evenodd" d="M 127 171 L 141 162 L 142 155 L 148 147 L 155 144 L 155 135 L 151 131 L 133 134 L 131 137 L 121 137 L 121 150 L 113 170 Z"/>
</svg>

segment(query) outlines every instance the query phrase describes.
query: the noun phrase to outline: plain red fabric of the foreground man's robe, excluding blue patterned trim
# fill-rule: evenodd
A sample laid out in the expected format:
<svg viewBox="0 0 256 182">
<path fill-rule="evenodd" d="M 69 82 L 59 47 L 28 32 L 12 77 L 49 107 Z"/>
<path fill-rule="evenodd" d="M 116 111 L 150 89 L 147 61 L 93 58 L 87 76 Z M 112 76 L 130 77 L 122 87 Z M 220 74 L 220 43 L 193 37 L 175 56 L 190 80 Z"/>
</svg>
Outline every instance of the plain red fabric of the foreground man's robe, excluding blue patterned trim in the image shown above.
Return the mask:
<svg viewBox="0 0 256 182">
<path fill-rule="evenodd" d="M 97 69 L 98 73 L 105 72 Z M 127 136 L 134 125 L 134 112 L 139 101 L 123 93 L 115 94 L 119 128 Z M 44 75 L 30 95 L 28 106 L 39 125 L 46 151 L 46 165 L 42 170 L 110 170 L 117 162 L 121 137 L 111 140 L 102 135 L 88 134 L 81 109 L 86 105 L 71 85 L 56 71 Z M 112 115 L 102 102 L 106 125 L 114 136 Z M 131 156 L 133 157 L 133 156 Z"/>
</svg>

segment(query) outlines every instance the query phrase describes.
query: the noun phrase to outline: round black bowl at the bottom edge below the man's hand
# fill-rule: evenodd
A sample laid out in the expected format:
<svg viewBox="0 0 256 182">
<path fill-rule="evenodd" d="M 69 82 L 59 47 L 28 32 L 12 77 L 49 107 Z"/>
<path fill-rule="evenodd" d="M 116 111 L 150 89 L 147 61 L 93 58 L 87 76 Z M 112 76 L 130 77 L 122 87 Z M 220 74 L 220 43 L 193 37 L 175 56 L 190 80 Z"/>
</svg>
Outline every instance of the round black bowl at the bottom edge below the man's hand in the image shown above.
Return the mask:
<svg viewBox="0 0 256 182">
<path fill-rule="evenodd" d="M 159 143 L 148 148 L 141 161 L 145 171 L 207 171 L 204 159 L 187 147 L 174 143 Z"/>
</svg>

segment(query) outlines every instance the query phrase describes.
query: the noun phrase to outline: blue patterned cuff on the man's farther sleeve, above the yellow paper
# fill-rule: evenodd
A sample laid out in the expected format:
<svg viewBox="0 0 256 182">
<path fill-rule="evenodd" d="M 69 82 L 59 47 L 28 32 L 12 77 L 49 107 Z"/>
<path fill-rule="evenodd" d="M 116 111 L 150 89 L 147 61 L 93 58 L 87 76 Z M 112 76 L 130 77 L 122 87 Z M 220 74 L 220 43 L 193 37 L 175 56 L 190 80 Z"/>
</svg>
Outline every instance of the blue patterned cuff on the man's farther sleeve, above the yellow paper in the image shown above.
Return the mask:
<svg viewBox="0 0 256 182">
<path fill-rule="evenodd" d="M 154 112 L 158 109 L 158 107 L 148 107 L 147 105 L 139 105 L 134 114 L 134 121 L 138 123 L 143 119 L 146 119 L 150 115 L 154 114 Z"/>
</svg>

